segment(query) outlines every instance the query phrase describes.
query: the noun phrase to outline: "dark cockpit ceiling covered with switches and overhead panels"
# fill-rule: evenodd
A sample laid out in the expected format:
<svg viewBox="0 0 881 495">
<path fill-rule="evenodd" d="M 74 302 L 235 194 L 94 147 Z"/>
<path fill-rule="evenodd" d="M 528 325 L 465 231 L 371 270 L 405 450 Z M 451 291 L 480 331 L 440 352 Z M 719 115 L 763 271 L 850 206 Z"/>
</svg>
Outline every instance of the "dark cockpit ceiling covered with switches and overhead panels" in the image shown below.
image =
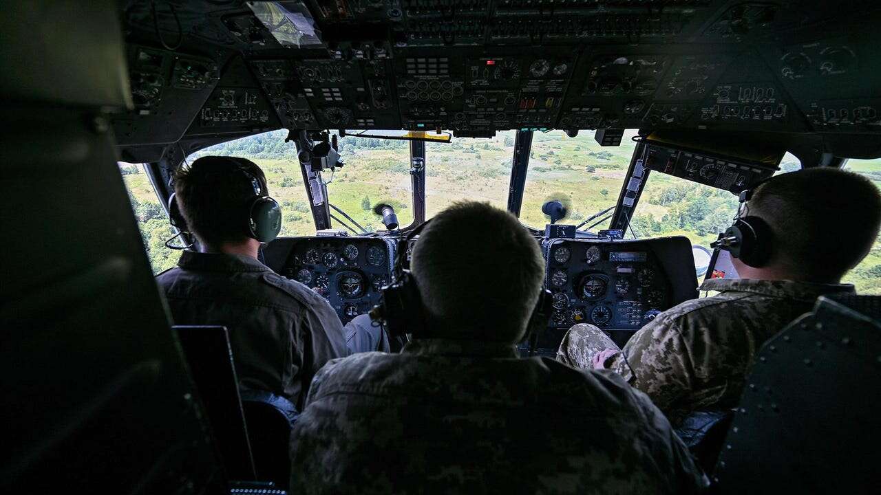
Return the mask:
<svg viewBox="0 0 881 495">
<path fill-rule="evenodd" d="M 130 2 L 136 107 L 116 118 L 116 138 L 279 128 L 877 135 L 879 14 L 875 1 L 819 0 Z"/>
</svg>

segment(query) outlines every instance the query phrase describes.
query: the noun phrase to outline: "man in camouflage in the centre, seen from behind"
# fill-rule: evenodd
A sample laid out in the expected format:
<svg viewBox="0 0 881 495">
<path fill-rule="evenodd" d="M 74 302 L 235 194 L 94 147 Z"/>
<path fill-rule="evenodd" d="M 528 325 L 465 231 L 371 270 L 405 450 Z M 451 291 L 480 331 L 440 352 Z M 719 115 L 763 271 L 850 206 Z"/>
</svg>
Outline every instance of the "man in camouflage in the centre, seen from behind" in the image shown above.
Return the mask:
<svg viewBox="0 0 881 495">
<path fill-rule="evenodd" d="M 505 211 L 459 203 L 434 217 L 412 256 L 425 327 L 400 354 L 356 354 L 315 375 L 291 435 L 291 492 L 704 488 L 663 413 L 618 374 L 517 357 L 543 265 Z"/>
</svg>

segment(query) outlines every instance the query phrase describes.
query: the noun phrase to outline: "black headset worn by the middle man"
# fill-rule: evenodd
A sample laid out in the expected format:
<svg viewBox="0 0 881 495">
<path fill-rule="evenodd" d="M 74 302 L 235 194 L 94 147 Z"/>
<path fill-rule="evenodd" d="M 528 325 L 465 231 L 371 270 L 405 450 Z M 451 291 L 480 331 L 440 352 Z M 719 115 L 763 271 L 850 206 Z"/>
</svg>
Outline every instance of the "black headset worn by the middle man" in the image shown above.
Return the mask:
<svg viewBox="0 0 881 495">
<path fill-rule="evenodd" d="M 406 247 L 410 241 L 422 232 L 423 228 L 428 225 L 431 220 L 426 220 L 406 235 L 403 245 Z M 406 248 L 398 248 L 395 262 L 395 279 L 387 287 L 382 288 L 382 298 L 380 304 L 376 305 L 370 311 L 370 318 L 379 321 L 386 329 L 390 337 L 406 338 L 406 334 L 419 336 L 420 332 L 426 329 L 426 309 L 422 304 L 422 296 L 419 294 L 416 278 L 410 270 L 403 269 L 403 253 Z M 532 314 L 529 316 L 529 323 L 526 328 L 526 334 L 522 341 L 529 336 L 537 335 L 540 331 L 547 327 L 548 318 L 551 317 L 553 311 L 551 292 L 541 288 L 536 301 L 536 307 L 533 308 Z"/>
</svg>

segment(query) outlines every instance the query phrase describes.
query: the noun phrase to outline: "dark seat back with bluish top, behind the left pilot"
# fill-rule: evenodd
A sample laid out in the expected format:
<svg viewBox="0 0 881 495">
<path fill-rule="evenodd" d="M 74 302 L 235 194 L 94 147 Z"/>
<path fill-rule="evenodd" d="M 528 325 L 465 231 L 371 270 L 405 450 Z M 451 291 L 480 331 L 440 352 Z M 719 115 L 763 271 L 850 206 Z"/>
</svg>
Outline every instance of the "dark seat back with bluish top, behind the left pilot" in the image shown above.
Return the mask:
<svg viewBox="0 0 881 495">
<path fill-rule="evenodd" d="M 285 397 L 270 392 L 243 391 L 241 403 L 257 474 L 278 486 L 287 486 L 291 480 L 288 444 L 293 423 L 300 413 Z"/>
</svg>

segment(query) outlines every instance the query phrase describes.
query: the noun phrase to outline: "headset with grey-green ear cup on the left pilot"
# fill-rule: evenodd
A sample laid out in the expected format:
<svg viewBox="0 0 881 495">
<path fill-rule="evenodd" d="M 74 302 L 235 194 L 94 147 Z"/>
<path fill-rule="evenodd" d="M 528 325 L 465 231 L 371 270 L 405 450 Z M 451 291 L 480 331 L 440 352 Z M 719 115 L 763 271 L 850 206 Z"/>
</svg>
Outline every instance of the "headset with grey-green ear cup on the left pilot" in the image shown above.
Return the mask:
<svg viewBox="0 0 881 495">
<path fill-rule="evenodd" d="M 234 164 L 234 170 L 241 173 L 254 191 L 254 196 L 248 198 L 245 206 L 247 218 L 245 218 L 245 233 L 251 239 L 260 242 L 270 242 L 278 237 L 281 232 L 281 206 L 278 202 L 266 194 L 263 181 L 248 170 L 250 162 L 237 157 L 225 157 Z M 189 233 L 187 221 L 181 214 L 181 207 L 177 203 L 176 193 L 168 198 L 168 221 L 181 233 Z"/>
</svg>

